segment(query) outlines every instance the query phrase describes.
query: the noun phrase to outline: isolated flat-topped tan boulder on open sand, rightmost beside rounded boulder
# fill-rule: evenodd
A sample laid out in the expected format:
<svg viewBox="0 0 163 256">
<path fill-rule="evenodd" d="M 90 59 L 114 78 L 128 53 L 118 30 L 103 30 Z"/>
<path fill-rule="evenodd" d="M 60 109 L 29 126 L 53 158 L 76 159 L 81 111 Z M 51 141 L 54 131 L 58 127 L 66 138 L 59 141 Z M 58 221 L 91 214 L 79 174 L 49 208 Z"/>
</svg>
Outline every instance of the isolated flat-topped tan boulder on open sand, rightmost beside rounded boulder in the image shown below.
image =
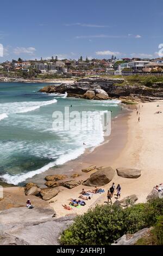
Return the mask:
<svg viewBox="0 0 163 256">
<path fill-rule="evenodd" d="M 139 178 L 141 175 L 141 170 L 132 168 L 117 168 L 118 176 L 129 179 Z"/>
</svg>

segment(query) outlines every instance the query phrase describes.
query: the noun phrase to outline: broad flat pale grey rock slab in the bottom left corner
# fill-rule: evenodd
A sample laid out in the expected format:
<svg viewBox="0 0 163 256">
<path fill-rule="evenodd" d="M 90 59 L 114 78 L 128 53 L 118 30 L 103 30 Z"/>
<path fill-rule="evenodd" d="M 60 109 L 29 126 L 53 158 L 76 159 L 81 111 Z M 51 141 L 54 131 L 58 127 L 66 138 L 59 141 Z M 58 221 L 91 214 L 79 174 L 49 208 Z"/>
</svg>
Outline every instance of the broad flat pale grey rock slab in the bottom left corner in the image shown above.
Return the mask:
<svg viewBox="0 0 163 256">
<path fill-rule="evenodd" d="M 60 234 L 73 223 L 76 215 L 53 216 L 53 209 L 43 208 L 1 211 L 0 245 L 59 245 Z"/>
</svg>

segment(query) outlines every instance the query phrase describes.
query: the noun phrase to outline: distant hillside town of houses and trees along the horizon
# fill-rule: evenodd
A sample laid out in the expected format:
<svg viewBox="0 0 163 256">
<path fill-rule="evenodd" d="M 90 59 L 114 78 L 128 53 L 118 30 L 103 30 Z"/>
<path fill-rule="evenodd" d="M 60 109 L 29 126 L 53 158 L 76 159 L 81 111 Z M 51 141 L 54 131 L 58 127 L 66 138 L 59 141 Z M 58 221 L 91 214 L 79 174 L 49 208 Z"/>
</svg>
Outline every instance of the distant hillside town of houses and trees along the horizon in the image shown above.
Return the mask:
<svg viewBox="0 0 163 256">
<path fill-rule="evenodd" d="M 51 79 L 97 75 L 163 75 L 163 58 L 141 59 L 112 56 L 110 59 L 51 59 L 6 61 L 0 64 L 0 78 Z M 2 79 L 1 79 L 2 80 Z"/>
</svg>

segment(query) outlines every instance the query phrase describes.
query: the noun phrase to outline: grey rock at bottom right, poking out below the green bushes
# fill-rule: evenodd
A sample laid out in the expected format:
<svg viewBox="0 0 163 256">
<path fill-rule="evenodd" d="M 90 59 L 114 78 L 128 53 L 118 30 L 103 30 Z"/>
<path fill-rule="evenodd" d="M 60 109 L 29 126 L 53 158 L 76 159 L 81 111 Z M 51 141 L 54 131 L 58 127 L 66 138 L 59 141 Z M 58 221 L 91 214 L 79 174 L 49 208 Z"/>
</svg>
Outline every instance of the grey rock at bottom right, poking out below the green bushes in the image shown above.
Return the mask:
<svg viewBox="0 0 163 256">
<path fill-rule="evenodd" d="M 118 240 L 116 240 L 114 243 L 111 243 L 111 245 L 135 245 L 135 243 L 141 239 L 143 236 L 147 235 L 151 229 L 149 228 L 143 228 L 139 231 L 137 231 L 135 234 L 126 234 L 120 237 Z"/>
</svg>

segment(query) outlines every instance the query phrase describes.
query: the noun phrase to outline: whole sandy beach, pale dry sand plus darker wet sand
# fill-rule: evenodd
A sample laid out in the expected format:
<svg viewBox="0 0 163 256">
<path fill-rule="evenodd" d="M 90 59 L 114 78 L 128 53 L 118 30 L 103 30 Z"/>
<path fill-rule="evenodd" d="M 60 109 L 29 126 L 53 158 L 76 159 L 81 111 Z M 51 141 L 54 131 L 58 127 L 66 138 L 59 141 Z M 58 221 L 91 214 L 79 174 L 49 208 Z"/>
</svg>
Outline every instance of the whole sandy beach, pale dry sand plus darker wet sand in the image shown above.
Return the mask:
<svg viewBox="0 0 163 256">
<path fill-rule="evenodd" d="M 157 107 L 158 104 L 159 107 Z M 140 108 L 139 104 L 137 108 L 138 115 L 136 109 L 134 109 L 133 111 L 128 111 L 128 114 L 122 115 L 121 118 L 113 120 L 111 136 L 105 139 L 104 144 L 97 147 L 92 153 L 85 153 L 77 160 L 67 162 L 65 166 L 59 167 L 59 169 L 51 168 L 46 173 L 42 173 L 42 176 L 39 176 L 39 184 L 41 184 L 41 180 L 45 182 L 43 177 L 49 174 L 56 174 L 59 170 L 62 170 L 62 173 L 69 174 L 67 180 L 72 179 L 70 178 L 71 174 L 79 173 L 81 176 L 75 180 L 84 181 L 89 178 L 93 171 L 82 173 L 82 169 L 91 165 L 96 165 L 97 167 L 111 166 L 115 170 L 120 167 L 141 169 L 140 178 L 121 178 L 116 173 L 114 179 L 102 187 L 105 190 L 104 193 L 93 195 L 91 200 L 86 201 L 85 206 L 73 208 L 73 210 L 65 210 L 62 204 L 68 205 L 70 198 L 79 199 L 79 193 L 82 188 L 92 190 L 93 187 L 79 185 L 70 190 L 59 186 L 58 195 L 48 201 L 49 205 L 55 210 L 57 217 L 74 213 L 80 215 L 97 203 L 105 204 L 106 193 L 112 182 L 115 182 L 116 186 L 117 184 L 121 185 L 121 199 L 131 194 L 136 194 L 138 203 L 146 202 L 146 197 L 153 186 L 163 182 L 163 101 L 140 102 Z M 162 113 L 155 114 L 156 111 L 162 111 Z M 138 117 L 140 117 L 140 122 Z M 27 182 L 32 181 L 38 184 L 38 176 L 36 175 Z M 5 188 L 5 190 L 8 189 Z M 16 188 L 14 189 L 16 190 Z M 115 202 L 115 200 L 116 198 L 113 197 L 112 202 Z"/>
</svg>

